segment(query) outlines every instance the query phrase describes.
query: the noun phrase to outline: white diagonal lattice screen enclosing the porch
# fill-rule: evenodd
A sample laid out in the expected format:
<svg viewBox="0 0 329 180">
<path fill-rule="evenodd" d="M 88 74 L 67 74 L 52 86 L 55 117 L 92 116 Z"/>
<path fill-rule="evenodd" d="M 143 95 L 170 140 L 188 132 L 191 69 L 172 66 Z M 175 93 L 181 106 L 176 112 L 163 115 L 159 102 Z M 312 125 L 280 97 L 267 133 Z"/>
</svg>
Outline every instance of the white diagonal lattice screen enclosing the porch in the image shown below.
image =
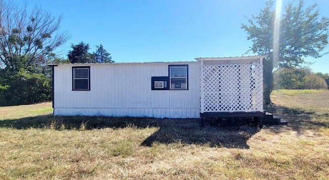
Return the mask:
<svg viewBox="0 0 329 180">
<path fill-rule="evenodd" d="M 263 64 L 201 65 L 200 108 L 204 112 L 263 111 Z"/>
</svg>

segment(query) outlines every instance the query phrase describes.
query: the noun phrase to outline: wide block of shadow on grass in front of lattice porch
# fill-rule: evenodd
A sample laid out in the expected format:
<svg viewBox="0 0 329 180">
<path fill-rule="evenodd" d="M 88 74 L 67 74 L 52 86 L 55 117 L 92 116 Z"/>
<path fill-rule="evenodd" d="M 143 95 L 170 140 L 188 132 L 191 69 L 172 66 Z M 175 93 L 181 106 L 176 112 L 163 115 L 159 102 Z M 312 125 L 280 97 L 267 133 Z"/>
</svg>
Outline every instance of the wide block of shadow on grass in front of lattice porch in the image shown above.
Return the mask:
<svg viewBox="0 0 329 180">
<path fill-rule="evenodd" d="M 151 147 L 153 142 L 202 144 L 210 147 L 249 149 L 246 141 L 259 132 L 256 125 L 237 121 L 234 126 L 223 120 L 207 120 L 203 128 L 197 119 L 168 119 L 161 123 L 158 131 L 147 137 L 143 146 Z"/>
</svg>

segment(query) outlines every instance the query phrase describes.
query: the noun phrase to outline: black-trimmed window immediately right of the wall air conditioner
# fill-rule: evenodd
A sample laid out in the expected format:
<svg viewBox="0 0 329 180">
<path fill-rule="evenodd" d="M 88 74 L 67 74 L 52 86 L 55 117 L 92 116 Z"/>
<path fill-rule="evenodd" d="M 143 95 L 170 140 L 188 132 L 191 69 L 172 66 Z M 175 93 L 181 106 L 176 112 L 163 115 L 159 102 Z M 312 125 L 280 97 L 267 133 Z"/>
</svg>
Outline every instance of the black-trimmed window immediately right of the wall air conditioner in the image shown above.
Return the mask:
<svg viewBox="0 0 329 180">
<path fill-rule="evenodd" d="M 188 65 L 169 65 L 170 89 L 188 89 Z"/>
</svg>

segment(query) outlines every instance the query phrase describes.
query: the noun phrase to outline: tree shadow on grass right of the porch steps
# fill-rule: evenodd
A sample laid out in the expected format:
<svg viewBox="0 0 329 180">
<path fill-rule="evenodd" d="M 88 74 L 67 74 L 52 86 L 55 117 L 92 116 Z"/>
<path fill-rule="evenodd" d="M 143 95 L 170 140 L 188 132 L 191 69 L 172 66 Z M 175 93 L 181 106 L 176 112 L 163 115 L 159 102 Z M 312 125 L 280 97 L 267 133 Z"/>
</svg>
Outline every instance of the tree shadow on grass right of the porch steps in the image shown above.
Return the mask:
<svg viewBox="0 0 329 180">
<path fill-rule="evenodd" d="M 316 114 L 303 109 L 295 109 L 281 105 L 269 105 L 266 111 L 288 121 L 287 126 L 271 126 L 268 127 L 273 132 L 282 132 L 287 128 L 303 134 L 305 130 L 320 128 L 329 128 L 329 114 Z"/>
</svg>

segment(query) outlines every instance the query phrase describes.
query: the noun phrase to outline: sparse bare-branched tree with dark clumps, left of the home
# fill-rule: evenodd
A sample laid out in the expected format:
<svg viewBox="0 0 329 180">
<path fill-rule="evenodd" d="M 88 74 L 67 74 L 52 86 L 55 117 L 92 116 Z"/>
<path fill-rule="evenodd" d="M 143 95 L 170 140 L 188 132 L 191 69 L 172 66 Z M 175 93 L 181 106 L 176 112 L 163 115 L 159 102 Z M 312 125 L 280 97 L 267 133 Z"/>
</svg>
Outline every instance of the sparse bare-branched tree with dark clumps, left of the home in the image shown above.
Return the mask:
<svg viewBox="0 0 329 180">
<path fill-rule="evenodd" d="M 40 7 L 28 13 L 26 4 L 19 8 L 1 1 L 0 68 L 18 71 L 45 63 L 47 55 L 68 40 L 67 32 L 60 31 L 61 20 Z"/>
</svg>

